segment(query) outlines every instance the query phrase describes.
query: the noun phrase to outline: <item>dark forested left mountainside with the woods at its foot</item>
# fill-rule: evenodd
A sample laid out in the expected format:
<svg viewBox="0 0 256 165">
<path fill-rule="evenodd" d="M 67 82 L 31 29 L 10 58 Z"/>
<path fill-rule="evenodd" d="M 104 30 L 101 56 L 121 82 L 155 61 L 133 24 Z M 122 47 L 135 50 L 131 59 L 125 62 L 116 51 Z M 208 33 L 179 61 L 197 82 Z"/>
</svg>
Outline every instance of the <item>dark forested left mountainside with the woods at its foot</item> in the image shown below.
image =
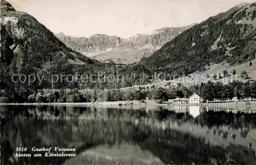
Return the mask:
<svg viewBox="0 0 256 165">
<path fill-rule="evenodd" d="M 105 64 L 91 60 L 68 48 L 34 17 L 25 12 L 15 11 L 6 1 L 1 1 L 0 18 L 0 97 L 20 101 L 20 99 L 26 100 L 30 94 L 37 93 L 39 89 L 103 89 L 148 83 L 138 77 L 131 77 L 132 72 L 145 71 L 150 74 L 143 66 Z M 76 81 L 74 79 L 76 74 L 87 75 L 90 79 L 83 82 Z M 90 77 L 92 74 L 94 74 L 93 78 Z M 101 77 L 98 74 L 101 74 Z M 114 81 L 103 81 L 104 76 L 110 74 L 115 76 Z M 13 75 L 14 79 L 12 79 Z M 53 75 L 59 77 L 63 75 L 63 79 L 53 82 Z M 127 75 L 127 77 L 117 81 L 117 75 Z M 29 76 L 35 78 L 33 83 L 29 83 Z"/>
</svg>

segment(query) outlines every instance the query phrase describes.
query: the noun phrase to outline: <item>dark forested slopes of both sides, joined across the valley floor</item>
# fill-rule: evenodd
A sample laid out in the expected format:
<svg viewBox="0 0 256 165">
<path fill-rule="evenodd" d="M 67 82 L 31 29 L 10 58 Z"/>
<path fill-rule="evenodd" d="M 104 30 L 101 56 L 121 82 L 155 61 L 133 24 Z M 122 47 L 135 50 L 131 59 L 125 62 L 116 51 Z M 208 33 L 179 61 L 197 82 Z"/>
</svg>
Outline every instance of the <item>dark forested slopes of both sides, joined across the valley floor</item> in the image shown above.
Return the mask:
<svg viewBox="0 0 256 165">
<path fill-rule="evenodd" d="M 155 72 L 181 75 L 202 70 L 210 62 L 244 63 L 255 56 L 255 7 L 235 7 L 211 17 L 184 31 L 151 57 L 123 65 L 91 60 L 68 48 L 34 17 L 2 1 L 0 101 L 27 102 L 42 89 L 103 90 L 145 85 L 165 78 L 161 77 L 164 74 L 156 77 Z M 58 80 L 53 79 L 55 75 Z M 83 75 L 86 79 L 80 77 Z"/>
</svg>

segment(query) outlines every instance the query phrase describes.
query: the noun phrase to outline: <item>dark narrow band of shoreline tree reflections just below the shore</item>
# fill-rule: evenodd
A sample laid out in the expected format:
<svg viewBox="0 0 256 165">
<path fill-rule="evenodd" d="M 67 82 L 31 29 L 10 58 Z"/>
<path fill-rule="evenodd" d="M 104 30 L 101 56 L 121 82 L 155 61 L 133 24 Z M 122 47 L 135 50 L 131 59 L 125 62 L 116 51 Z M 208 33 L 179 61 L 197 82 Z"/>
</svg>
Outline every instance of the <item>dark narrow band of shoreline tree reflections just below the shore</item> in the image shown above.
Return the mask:
<svg viewBox="0 0 256 165">
<path fill-rule="evenodd" d="M 13 118 L 14 116 L 34 117 L 34 118 L 122 118 L 122 119 L 143 119 L 153 122 L 156 121 L 177 121 L 179 125 L 185 122 L 201 124 L 201 127 L 207 126 L 221 127 L 227 125 L 228 129 L 254 129 L 256 127 L 256 114 L 246 114 L 232 112 L 202 112 L 197 118 L 193 118 L 189 113 L 177 113 L 169 111 L 160 106 L 156 111 L 146 111 L 145 107 L 141 109 L 129 109 L 125 111 L 124 108 L 113 107 L 97 107 L 97 106 L 2 106 L 5 109 L 4 115 L 6 118 Z"/>
</svg>

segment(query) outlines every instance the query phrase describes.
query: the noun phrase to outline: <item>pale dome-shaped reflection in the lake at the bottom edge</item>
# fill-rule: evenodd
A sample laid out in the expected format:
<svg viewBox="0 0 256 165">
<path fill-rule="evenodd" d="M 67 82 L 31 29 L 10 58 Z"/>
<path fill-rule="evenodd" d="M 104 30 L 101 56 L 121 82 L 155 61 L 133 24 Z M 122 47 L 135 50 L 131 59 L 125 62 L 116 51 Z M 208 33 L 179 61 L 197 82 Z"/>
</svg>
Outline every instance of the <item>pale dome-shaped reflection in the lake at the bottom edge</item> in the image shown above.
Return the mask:
<svg viewBox="0 0 256 165">
<path fill-rule="evenodd" d="M 151 152 L 129 143 L 100 145 L 81 152 L 63 164 L 131 164 L 131 160 L 137 164 L 164 164 Z"/>
</svg>

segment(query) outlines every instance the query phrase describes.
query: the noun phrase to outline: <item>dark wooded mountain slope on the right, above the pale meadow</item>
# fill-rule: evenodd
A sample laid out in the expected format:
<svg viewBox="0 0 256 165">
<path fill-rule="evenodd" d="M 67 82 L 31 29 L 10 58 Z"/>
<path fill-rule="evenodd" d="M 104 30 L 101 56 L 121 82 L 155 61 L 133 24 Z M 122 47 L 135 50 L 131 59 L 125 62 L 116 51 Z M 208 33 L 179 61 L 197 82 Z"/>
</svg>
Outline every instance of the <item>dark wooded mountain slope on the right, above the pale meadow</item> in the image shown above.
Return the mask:
<svg viewBox="0 0 256 165">
<path fill-rule="evenodd" d="M 184 31 L 140 64 L 171 77 L 205 70 L 210 62 L 242 64 L 255 58 L 255 18 L 255 3 L 240 4 Z"/>
</svg>

